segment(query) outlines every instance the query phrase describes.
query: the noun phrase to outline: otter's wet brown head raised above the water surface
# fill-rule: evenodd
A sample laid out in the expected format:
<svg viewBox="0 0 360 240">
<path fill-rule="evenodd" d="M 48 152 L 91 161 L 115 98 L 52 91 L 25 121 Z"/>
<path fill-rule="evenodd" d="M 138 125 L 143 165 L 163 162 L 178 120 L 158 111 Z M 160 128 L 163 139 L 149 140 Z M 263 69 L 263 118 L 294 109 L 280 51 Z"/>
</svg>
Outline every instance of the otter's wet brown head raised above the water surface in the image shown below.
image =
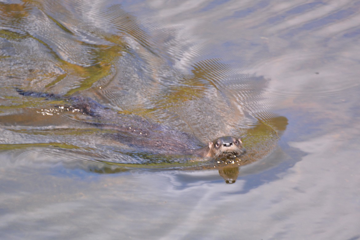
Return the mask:
<svg viewBox="0 0 360 240">
<path fill-rule="evenodd" d="M 215 158 L 236 158 L 245 153 L 240 138 L 232 136 L 219 137 L 208 142 L 208 157 Z"/>
</svg>

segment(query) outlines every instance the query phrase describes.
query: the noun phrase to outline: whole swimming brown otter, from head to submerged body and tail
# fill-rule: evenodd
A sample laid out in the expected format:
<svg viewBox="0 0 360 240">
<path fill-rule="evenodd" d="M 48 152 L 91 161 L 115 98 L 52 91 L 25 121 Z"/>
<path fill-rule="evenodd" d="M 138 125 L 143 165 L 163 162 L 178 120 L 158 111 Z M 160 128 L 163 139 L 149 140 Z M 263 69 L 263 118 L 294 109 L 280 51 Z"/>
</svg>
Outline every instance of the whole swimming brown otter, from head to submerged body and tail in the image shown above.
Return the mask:
<svg viewBox="0 0 360 240">
<path fill-rule="evenodd" d="M 201 141 L 189 133 L 149 122 L 147 119 L 136 115 L 117 113 L 91 98 L 16 90 L 24 96 L 65 100 L 71 103 L 71 105 L 57 107 L 60 110 L 71 110 L 90 116 L 92 121 L 85 121 L 86 123 L 115 131 L 109 135 L 111 138 L 138 151 L 152 154 L 193 155 L 216 159 L 233 159 L 246 152 L 239 137 L 219 137 L 209 141 L 204 146 Z"/>
</svg>

